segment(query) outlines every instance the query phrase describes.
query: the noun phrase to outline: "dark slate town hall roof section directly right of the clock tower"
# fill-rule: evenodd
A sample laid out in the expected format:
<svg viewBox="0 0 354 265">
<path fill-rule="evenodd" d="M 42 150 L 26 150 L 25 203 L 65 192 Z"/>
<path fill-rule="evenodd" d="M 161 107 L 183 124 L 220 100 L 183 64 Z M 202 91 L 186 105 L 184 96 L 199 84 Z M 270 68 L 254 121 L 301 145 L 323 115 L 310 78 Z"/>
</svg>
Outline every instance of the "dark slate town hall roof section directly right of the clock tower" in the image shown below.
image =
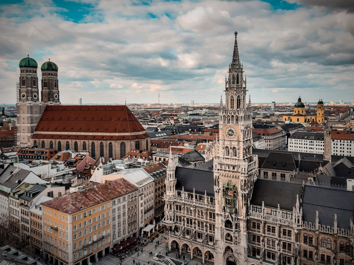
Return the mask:
<svg viewBox="0 0 354 265">
<path fill-rule="evenodd" d="M 296 205 L 296 195 L 301 198 L 302 185 L 290 182 L 257 179 L 253 186 L 251 204 L 269 206 L 292 211 Z M 353 193 L 354 194 L 354 193 Z"/>
</svg>

